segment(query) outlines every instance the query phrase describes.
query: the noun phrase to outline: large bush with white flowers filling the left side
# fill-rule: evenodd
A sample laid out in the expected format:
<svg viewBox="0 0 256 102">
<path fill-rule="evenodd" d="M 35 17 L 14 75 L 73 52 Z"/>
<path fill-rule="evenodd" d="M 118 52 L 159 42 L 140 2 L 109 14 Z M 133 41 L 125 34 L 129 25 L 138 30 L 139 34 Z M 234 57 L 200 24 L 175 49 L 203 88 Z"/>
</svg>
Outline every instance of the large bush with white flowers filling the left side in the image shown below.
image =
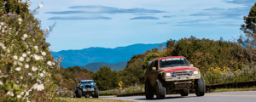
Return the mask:
<svg viewBox="0 0 256 102">
<path fill-rule="evenodd" d="M 49 32 L 41 30 L 28 6 L 19 0 L 0 3 L 0 101 L 50 101 L 55 97 L 51 76 L 56 64 L 45 42 Z"/>
</svg>

